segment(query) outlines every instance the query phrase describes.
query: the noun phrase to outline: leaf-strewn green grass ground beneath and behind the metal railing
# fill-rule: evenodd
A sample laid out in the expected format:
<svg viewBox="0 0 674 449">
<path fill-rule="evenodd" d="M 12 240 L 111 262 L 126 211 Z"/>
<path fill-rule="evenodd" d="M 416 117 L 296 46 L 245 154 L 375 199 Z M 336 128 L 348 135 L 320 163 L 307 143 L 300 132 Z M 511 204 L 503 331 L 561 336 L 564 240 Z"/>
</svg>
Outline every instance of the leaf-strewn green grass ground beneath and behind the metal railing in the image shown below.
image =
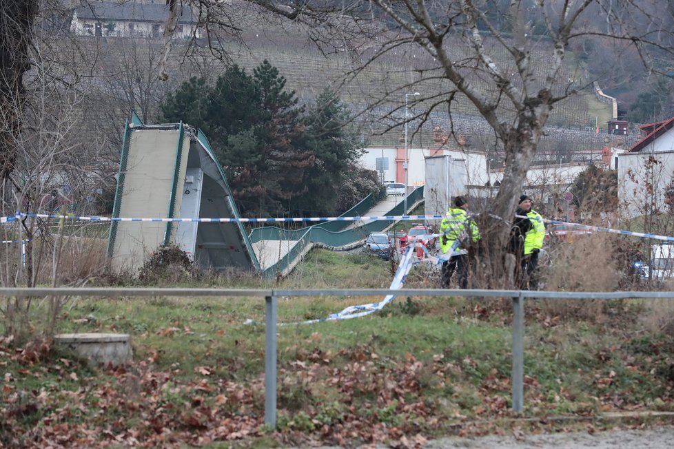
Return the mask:
<svg viewBox="0 0 674 449">
<path fill-rule="evenodd" d="M 377 258 L 317 250 L 279 286 L 379 286 L 390 282 L 390 270 Z M 245 275 L 216 279 L 209 283 L 254 283 Z M 413 275 L 407 286 L 427 282 Z M 278 319 L 316 319 L 379 299 L 279 297 Z M 637 332 L 642 304 L 621 303 L 623 315 L 603 320 L 566 317 L 556 326 L 544 320 L 543 304 L 528 304 L 525 417 L 674 409 L 674 344 L 666 335 Z M 39 305 L 32 315 L 37 329 L 44 313 Z M 264 311 L 261 297 L 72 301 L 58 331 L 130 333 L 134 364 L 105 370 L 62 348 L 8 351 L 0 342 L 8 373 L 3 443 L 10 446 L 13 436 L 15 445 L 29 438 L 39 445 L 53 426 L 68 425 L 72 439 L 90 446 L 109 441 L 110 429 L 150 443 L 170 435 L 187 446 L 195 435 L 212 439 L 211 447 L 225 447 L 225 435 L 252 447 L 311 439 L 356 445 L 417 433 L 493 431 L 479 423 L 513 417 L 507 301 L 398 297 L 367 317 L 278 327 L 279 415 L 270 432 L 263 426 Z M 218 433 L 223 426 L 227 432 Z"/>
</svg>

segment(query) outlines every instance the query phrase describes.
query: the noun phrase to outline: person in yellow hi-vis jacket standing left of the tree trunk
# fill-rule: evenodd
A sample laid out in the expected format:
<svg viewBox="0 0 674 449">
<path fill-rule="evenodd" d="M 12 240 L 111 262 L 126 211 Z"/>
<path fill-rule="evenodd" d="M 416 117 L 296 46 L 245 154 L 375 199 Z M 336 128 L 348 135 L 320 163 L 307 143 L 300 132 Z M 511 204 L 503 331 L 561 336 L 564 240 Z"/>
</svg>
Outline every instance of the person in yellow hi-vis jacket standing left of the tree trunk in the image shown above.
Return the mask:
<svg viewBox="0 0 674 449">
<path fill-rule="evenodd" d="M 449 279 L 456 270 L 459 286 L 468 288 L 469 259 L 467 247 L 471 242 L 480 240 L 480 229 L 475 220 L 468 215 L 468 201 L 462 197 L 454 198 L 454 207 L 440 225 L 440 247 L 449 260 L 442 262 L 442 288 L 449 287 Z"/>
</svg>

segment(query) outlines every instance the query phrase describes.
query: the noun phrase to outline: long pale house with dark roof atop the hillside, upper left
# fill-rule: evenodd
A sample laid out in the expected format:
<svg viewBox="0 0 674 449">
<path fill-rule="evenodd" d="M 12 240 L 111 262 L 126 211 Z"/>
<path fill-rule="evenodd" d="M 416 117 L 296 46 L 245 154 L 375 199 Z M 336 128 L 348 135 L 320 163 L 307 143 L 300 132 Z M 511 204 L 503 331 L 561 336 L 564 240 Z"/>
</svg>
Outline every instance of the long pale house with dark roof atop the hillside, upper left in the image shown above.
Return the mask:
<svg viewBox="0 0 674 449">
<path fill-rule="evenodd" d="M 70 31 L 79 36 L 163 36 L 169 9 L 165 1 L 86 1 L 75 8 Z M 189 6 L 178 6 L 175 38 L 198 37 L 197 21 Z"/>
</svg>

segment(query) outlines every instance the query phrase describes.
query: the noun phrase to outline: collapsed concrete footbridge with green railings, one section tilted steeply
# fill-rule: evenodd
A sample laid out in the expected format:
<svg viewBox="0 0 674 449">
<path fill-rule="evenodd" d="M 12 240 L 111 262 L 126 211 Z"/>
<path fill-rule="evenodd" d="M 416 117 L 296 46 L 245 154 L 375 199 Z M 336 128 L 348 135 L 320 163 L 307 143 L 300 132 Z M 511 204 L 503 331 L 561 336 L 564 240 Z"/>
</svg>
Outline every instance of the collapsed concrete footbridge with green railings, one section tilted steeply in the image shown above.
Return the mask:
<svg viewBox="0 0 674 449">
<path fill-rule="evenodd" d="M 417 187 L 407 204 L 413 209 L 422 200 Z M 402 209 L 402 197 L 376 202 L 370 195 L 342 216 L 399 216 Z M 108 256 L 116 269 L 137 272 L 161 245 L 176 244 L 201 267 L 269 277 L 287 275 L 314 247 L 351 249 L 394 225 L 331 220 L 247 233 L 206 136 L 183 123 L 145 125 L 136 114 L 125 125 L 112 218 Z"/>
</svg>

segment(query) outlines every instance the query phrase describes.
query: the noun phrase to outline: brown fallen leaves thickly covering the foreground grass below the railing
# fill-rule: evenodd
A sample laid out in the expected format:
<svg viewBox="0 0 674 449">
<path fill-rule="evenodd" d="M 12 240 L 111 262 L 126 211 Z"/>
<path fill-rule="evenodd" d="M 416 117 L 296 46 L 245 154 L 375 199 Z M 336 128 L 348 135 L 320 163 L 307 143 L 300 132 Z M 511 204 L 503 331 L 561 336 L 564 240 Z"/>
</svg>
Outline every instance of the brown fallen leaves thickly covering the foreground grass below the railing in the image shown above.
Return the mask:
<svg viewBox="0 0 674 449">
<path fill-rule="evenodd" d="M 166 335 L 176 332 L 191 331 L 175 326 Z M 308 346 L 318 342 L 320 335 L 314 334 Z M 11 341 L 0 339 L 0 351 L 20 366 L 3 376 L 0 446 L 174 448 L 269 432 L 263 427 L 262 373 L 235 382 L 232 379 L 238 377 L 224 379 L 218 373 L 234 373 L 236 366 L 201 364 L 192 375 L 180 375 L 157 369 L 159 354 L 150 352 L 131 366 L 92 375 L 81 362 L 49 359 L 46 342 L 13 348 Z M 412 353 L 391 359 L 369 345 L 338 353 L 297 349 L 294 360 L 279 369 L 278 408 L 279 415 L 306 417 L 305 428 L 280 426 L 266 435 L 302 446 L 386 443 L 392 448 L 420 448 L 438 432 L 464 436 L 511 432 L 515 438 L 523 437 L 525 428 L 507 430 L 468 421 L 489 423 L 513 416 L 509 376 L 493 369 L 473 388 L 469 373 L 478 366 L 475 360 L 456 359 L 451 353 L 427 359 Z M 23 378 L 46 373 L 50 379 L 56 375 L 57 382 L 32 390 L 21 387 Z M 595 390 L 609 390 L 616 377 L 612 370 L 598 374 L 593 379 Z M 550 395 L 536 377 L 527 375 L 524 382 L 531 406 L 551 410 L 560 401 L 571 400 L 563 386 Z M 296 391 L 295 402 L 288 391 Z M 477 404 L 461 406 L 468 393 Z M 595 401 L 601 410 L 634 407 L 615 391 Z"/>
</svg>

